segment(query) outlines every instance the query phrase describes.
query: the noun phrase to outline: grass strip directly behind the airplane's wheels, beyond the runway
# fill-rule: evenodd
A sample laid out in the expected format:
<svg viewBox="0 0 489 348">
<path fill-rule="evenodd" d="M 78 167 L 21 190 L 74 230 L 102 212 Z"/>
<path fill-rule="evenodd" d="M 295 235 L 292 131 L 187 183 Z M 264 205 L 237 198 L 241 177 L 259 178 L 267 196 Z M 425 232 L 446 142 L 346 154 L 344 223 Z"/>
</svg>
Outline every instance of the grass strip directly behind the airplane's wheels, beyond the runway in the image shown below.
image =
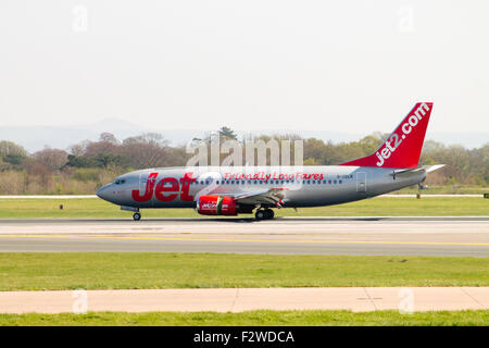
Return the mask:
<svg viewBox="0 0 489 348">
<path fill-rule="evenodd" d="M 63 210 L 59 206 L 63 204 Z M 142 209 L 143 217 L 197 217 L 193 209 Z M 488 215 L 489 199 L 478 197 L 378 197 L 339 206 L 276 210 L 277 216 L 367 216 L 367 215 Z M 98 198 L 0 199 L 0 219 L 130 217 L 117 206 Z M 243 215 L 247 216 L 247 215 Z"/>
</svg>

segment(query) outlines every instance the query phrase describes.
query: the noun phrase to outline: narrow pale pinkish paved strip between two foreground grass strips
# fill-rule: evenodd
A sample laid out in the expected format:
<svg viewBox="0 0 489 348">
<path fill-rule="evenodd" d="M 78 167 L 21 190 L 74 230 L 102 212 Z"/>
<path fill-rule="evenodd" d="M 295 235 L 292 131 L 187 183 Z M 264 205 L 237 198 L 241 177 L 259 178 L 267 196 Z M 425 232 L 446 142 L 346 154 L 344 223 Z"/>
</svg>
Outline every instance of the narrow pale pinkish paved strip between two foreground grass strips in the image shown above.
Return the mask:
<svg viewBox="0 0 489 348">
<path fill-rule="evenodd" d="M 489 287 L 312 287 L 0 291 L 0 313 L 85 311 L 487 310 Z"/>
</svg>

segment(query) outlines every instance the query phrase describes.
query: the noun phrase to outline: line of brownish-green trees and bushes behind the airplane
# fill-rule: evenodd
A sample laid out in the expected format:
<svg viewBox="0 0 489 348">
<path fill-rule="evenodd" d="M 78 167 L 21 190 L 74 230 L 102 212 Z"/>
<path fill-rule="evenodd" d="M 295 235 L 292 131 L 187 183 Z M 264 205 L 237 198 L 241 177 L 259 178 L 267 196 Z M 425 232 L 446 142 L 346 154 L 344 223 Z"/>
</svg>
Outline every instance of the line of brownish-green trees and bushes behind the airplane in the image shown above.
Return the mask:
<svg viewBox="0 0 489 348">
<path fill-rule="evenodd" d="M 217 135 L 221 141 L 237 139 L 235 132 L 222 127 L 206 134 L 210 141 Z M 304 165 L 334 165 L 374 152 L 386 138 L 374 133 L 358 141 L 334 144 L 317 138 L 303 140 Z M 297 135 L 260 135 L 241 139 L 264 140 L 301 139 Z M 117 175 L 147 167 L 181 166 L 192 157 L 184 145 L 172 146 L 161 134 L 146 133 L 117 139 L 111 133 L 102 133 L 97 141 L 85 140 L 66 150 L 45 148 L 29 153 L 12 141 L 0 140 L 0 195 L 39 194 L 93 194 Z M 222 154 L 221 158 L 225 158 Z M 430 185 L 489 184 L 489 142 L 480 148 L 467 149 L 460 145 L 446 146 L 427 140 L 424 144 L 421 164 L 447 164 L 430 174 Z M 252 165 L 253 163 L 249 163 Z"/>
</svg>

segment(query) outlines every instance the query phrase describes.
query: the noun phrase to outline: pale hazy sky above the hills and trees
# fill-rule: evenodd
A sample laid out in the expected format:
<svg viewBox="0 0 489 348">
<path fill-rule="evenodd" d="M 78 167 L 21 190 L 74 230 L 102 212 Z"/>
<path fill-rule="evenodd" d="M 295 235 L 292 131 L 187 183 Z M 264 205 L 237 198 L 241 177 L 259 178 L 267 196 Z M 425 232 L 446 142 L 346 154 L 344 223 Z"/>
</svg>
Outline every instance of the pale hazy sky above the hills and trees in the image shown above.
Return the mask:
<svg viewBox="0 0 489 348">
<path fill-rule="evenodd" d="M 489 129 L 488 1 L 0 1 L 0 126 Z"/>
</svg>

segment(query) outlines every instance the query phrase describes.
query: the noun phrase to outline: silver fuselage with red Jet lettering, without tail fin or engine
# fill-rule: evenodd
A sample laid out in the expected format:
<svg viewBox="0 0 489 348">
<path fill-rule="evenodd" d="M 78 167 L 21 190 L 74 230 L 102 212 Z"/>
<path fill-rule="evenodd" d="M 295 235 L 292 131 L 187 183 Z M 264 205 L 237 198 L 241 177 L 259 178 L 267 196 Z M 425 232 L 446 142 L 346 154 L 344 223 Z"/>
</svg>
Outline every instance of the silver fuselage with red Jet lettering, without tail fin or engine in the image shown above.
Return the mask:
<svg viewBox="0 0 489 348">
<path fill-rule="evenodd" d="M 398 176 L 393 171 L 346 165 L 149 169 L 124 174 L 97 194 L 123 207 L 193 208 L 199 196 L 280 188 L 285 207 L 318 207 L 378 196 L 426 177 L 424 171 Z"/>
</svg>

